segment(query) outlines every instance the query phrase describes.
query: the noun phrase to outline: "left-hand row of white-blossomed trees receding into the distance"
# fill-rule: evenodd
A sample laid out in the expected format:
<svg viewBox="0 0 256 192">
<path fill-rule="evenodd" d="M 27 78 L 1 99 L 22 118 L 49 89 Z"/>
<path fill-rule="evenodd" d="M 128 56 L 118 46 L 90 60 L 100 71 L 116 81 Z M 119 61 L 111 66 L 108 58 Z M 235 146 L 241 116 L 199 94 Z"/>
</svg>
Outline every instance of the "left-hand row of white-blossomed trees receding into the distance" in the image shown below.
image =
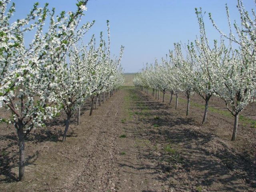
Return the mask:
<svg viewBox="0 0 256 192">
<path fill-rule="evenodd" d="M 55 14 L 48 4 L 34 4 L 24 19 L 10 23 L 15 4 L 0 0 L 0 107 L 10 110 L 1 122 L 14 124 L 19 138 L 19 180 L 24 180 L 24 138 L 34 128 L 44 126 L 61 110 L 67 115 L 62 141 L 66 140 L 74 112 L 90 97 L 110 92 L 124 81 L 119 57 L 110 57 L 108 42 L 100 34 L 99 45 L 92 36 L 85 44 L 83 37 L 91 23 L 79 25 L 88 0 L 79 0 L 75 12 Z M 7 10 L 7 7 L 10 8 Z M 50 24 L 45 26 L 46 18 Z M 35 31 L 26 46 L 24 33 Z M 43 32 L 46 31 L 46 32 Z M 66 62 L 69 61 L 69 62 Z"/>
</svg>

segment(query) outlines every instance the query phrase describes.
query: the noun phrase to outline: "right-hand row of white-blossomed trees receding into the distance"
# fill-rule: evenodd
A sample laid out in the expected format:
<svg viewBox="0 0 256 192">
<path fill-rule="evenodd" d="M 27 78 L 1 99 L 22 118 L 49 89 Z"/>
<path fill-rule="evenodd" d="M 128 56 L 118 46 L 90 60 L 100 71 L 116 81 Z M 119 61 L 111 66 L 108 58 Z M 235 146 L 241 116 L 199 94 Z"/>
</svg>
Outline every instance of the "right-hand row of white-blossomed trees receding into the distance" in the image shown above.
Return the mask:
<svg viewBox="0 0 256 192">
<path fill-rule="evenodd" d="M 133 82 L 137 88 L 152 88 L 165 94 L 166 90 L 176 94 L 182 92 L 188 100 L 186 115 L 189 112 L 190 98 L 194 93 L 205 100 L 205 112 L 202 124 L 206 121 L 208 102 L 213 95 L 223 99 L 226 108 L 234 116 L 232 141 L 236 139 L 239 113 L 256 96 L 256 14 L 252 17 L 245 10 L 242 0 L 238 0 L 238 11 L 241 24 L 234 23 L 232 31 L 228 7 L 226 14 L 230 33 L 224 34 L 215 24 L 211 14 L 209 18 L 213 26 L 221 34 L 220 44 L 214 40 L 213 46 L 206 35 L 201 8 L 196 9 L 200 36 L 187 45 L 174 44 L 169 57 L 162 58 L 161 64 L 146 64 Z M 256 3 L 256 2 L 255 2 Z M 225 42 L 227 40 L 228 42 Z M 238 47 L 235 49 L 234 47 Z M 170 100 L 170 102 L 171 102 Z"/>
</svg>

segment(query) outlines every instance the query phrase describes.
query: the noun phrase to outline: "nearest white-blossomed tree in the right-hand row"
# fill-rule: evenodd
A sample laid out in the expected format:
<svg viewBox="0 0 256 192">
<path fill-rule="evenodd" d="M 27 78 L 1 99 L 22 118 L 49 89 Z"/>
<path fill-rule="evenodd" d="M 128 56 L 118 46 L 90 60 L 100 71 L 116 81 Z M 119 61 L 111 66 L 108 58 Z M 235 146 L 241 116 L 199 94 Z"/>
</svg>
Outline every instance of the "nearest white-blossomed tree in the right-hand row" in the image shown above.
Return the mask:
<svg viewBox="0 0 256 192">
<path fill-rule="evenodd" d="M 252 9 L 252 18 L 244 8 L 242 0 L 237 0 L 240 14 L 240 24 L 234 23 L 235 33 L 232 32 L 228 6 L 226 14 L 230 34 L 224 34 L 215 24 L 209 14 L 213 26 L 222 36 L 230 41 L 227 54 L 217 65 L 216 75 L 212 81 L 217 81 L 215 92 L 222 98 L 227 109 L 234 116 L 232 141 L 236 139 L 239 114 L 255 95 L 256 88 L 256 14 Z M 256 4 L 256 2 L 255 2 Z M 238 45 L 238 50 L 232 46 Z"/>
</svg>

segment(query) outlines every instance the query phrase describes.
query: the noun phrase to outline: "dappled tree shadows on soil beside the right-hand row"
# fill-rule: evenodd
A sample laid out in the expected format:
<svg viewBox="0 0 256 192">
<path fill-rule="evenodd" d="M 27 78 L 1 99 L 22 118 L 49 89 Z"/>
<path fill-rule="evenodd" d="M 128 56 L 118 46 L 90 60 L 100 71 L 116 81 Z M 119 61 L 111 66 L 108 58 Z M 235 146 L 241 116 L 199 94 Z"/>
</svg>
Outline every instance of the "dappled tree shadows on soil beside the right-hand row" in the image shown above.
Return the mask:
<svg viewBox="0 0 256 192">
<path fill-rule="evenodd" d="M 168 112 L 160 112 L 164 110 L 162 107 L 166 106 L 165 104 L 148 101 L 148 96 L 140 92 L 138 95 L 143 100 L 139 101 L 139 106 L 145 105 L 150 110 L 150 118 L 146 116 L 139 120 L 146 125 L 148 123 L 159 125 L 156 128 L 138 128 L 133 133 L 134 137 L 147 138 L 153 146 L 160 148 L 159 150 L 149 148 L 148 152 L 141 152 L 140 158 L 158 164 L 145 165 L 143 169 L 161 170 L 164 177 L 159 176 L 157 180 L 169 180 L 170 186 L 179 186 L 183 190 L 187 190 L 191 184 L 211 187 L 216 183 L 221 184 L 222 190 L 227 191 L 248 190 L 248 185 L 256 188 L 255 159 L 247 152 L 234 151 L 218 140 L 218 136 L 200 132 L 199 128 L 194 126 L 192 119 L 176 118 Z M 135 110 L 139 109 L 135 108 Z M 152 118 L 154 116 L 160 118 L 154 119 Z M 146 134 L 143 133 L 145 130 Z M 212 143 L 214 146 L 209 147 Z M 169 152 L 164 150 L 167 145 L 170 146 Z M 209 150 L 211 147 L 214 148 L 214 152 Z M 120 164 L 120 166 L 130 165 Z M 141 169 L 138 166 L 131 167 Z M 181 180 L 179 177 L 182 175 L 186 175 L 188 181 L 183 185 L 179 183 Z"/>
</svg>

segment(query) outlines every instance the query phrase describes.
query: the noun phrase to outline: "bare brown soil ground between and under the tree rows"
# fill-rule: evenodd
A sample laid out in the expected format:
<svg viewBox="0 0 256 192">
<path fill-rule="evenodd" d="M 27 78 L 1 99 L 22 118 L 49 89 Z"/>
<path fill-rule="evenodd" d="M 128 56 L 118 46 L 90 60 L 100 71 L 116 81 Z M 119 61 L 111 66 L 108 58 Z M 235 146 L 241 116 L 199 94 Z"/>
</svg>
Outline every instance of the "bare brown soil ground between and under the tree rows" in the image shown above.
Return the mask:
<svg viewBox="0 0 256 192">
<path fill-rule="evenodd" d="M 246 146 L 212 134 L 218 116 L 198 126 L 196 112 L 186 118 L 133 88 L 119 90 L 93 116 L 85 112 L 80 126 L 73 123 L 65 144 L 60 120 L 45 136 L 57 139 L 28 140 L 26 182 L 14 181 L 14 162 L 0 174 L 0 191 L 256 191 L 256 149 L 241 151 Z M 221 121 L 229 132 L 230 120 Z M 3 143 L 13 147 L 15 137 Z"/>
</svg>

